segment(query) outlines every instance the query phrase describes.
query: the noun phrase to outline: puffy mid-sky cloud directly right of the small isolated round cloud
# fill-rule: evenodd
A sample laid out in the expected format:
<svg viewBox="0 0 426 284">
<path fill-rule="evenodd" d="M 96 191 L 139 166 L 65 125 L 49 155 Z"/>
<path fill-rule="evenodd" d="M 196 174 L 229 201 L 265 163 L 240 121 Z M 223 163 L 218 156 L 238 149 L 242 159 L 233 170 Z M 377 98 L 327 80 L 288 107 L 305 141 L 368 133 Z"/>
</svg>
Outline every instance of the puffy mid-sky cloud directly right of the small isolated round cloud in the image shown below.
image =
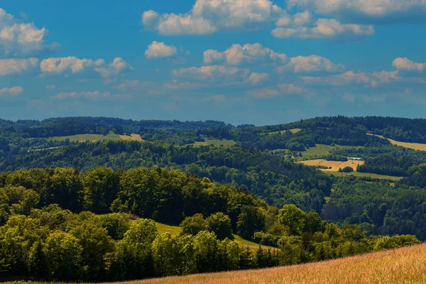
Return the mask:
<svg viewBox="0 0 426 284">
<path fill-rule="evenodd" d="M 275 53 L 270 48 L 263 48 L 259 43 L 239 45 L 234 44 L 231 48 L 219 52 L 218 50 L 204 51 L 204 64 L 215 64 L 225 62 L 227 65 L 245 65 L 255 63 L 279 63 L 288 61 L 287 55 Z"/>
</svg>

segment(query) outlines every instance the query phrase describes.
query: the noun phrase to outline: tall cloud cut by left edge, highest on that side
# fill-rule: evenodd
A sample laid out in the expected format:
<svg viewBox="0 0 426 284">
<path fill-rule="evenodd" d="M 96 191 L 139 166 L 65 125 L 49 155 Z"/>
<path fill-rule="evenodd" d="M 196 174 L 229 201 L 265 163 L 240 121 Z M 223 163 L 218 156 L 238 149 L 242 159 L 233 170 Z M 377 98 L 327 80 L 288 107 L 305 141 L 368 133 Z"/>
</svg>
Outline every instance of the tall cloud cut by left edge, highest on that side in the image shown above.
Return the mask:
<svg viewBox="0 0 426 284">
<path fill-rule="evenodd" d="M 0 8 L 0 56 L 23 57 L 53 50 L 58 43 L 47 45 L 44 41 L 48 31 L 37 28 L 34 23 L 21 23 Z"/>
</svg>

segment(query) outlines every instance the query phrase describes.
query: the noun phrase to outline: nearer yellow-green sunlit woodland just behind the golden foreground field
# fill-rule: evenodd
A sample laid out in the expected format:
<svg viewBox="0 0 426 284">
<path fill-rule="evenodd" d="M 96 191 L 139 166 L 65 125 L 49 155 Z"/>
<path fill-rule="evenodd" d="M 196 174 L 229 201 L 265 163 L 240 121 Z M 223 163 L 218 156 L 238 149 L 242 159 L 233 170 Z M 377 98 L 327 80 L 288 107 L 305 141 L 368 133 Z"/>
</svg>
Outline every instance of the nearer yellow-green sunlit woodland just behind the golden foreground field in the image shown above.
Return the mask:
<svg viewBox="0 0 426 284">
<path fill-rule="evenodd" d="M 295 205 L 271 207 L 244 190 L 179 170 L 72 168 L 0 175 L 0 275 L 128 280 L 264 268 L 418 244 L 366 237 Z M 206 217 L 204 219 L 204 216 Z M 180 236 L 155 222 L 180 224 Z M 240 247 L 239 234 L 273 246 Z"/>
</svg>

